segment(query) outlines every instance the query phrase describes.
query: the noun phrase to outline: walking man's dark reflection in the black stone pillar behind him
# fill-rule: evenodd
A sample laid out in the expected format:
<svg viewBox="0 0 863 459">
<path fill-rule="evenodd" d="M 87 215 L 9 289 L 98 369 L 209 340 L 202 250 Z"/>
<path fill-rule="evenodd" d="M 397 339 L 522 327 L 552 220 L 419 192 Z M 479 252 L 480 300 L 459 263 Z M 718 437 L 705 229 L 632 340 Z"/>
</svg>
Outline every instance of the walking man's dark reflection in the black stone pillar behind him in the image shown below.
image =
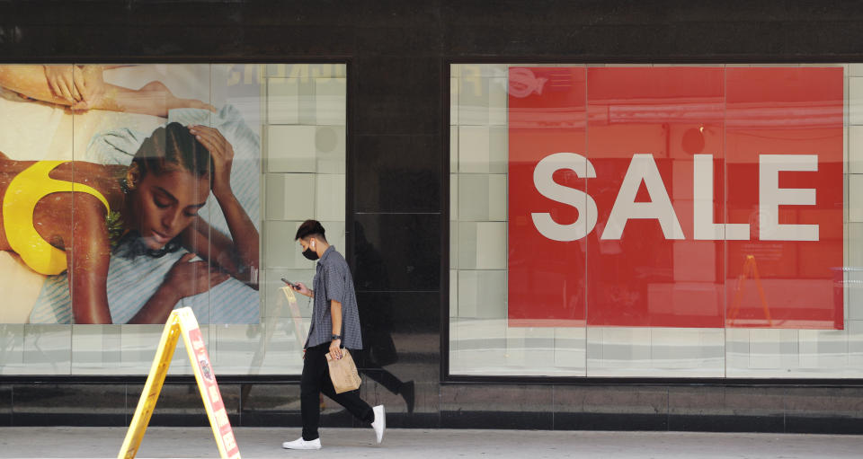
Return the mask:
<svg viewBox="0 0 863 459">
<path fill-rule="evenodd" d="M 354 286 L 358 291 L 379 290 L 387 286 L 387 265 L 380 252 L 366 239 L 362 225 L 355 223 Z M 378 288 L 376 288 L 376 286 Z M 407 404 L 407 412 L 414 412 L 414 381 L 402 382 L 384 366 L 398 361 L 396 344 L 393 342 L 392 297 L 385 293 L 374 296 L 371 301 L 359 302 L 362 325 L 362 350 L 359 353 L 358 369 L 361 374 L 384 386 L 387 391 L 401 395 Z"/>
</svg>

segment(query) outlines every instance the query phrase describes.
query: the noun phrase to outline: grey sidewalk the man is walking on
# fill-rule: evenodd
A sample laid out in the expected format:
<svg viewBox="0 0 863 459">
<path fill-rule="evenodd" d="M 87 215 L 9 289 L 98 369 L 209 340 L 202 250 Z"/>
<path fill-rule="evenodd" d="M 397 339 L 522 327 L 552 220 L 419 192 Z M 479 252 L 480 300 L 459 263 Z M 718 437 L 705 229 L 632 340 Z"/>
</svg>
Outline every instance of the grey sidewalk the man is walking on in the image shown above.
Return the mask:
<svg viewBox="0 0 863 459">
<path fill-rule="evenodd" d="M 240 454 L 338 458 L 802 458 L 860 457 L 863 437 L 691 432 L 388 429 L 375 446 L 370 428 L 322 428 L 324 448 L 288 451 L 299 428 L 236 428 Z M 125 428 L 0 428 L 0 457 L 117 457 Z M 209 428 L 148 428 L 139 458 L 218 457 Z"/>
</svg>

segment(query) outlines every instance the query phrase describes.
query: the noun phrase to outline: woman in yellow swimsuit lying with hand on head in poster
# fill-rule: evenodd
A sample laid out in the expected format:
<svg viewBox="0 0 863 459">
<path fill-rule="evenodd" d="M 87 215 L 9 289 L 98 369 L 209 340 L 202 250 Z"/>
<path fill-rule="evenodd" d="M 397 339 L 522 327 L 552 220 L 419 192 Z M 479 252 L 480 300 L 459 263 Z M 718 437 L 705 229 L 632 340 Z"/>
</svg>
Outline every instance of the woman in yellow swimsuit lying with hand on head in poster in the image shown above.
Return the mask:
<svg viewBox="0 0 863 459">
<path fill-rule="evenodd" d="M 181 298 L 228 275 L 257 287 L 258 233 L 231 190 L 233 157 L 217 129 L 179 123 L 157 128 L 128 167 L 0 154 L 0 250 L 16 252 L 40 274 L 67 270 L 76 323 L 111 323 L 111 245 L 133 234 L 150 256 L 181 245 L 192 253 L 173 265 L 132 323 L 165 322 Z M 233 240 L 210 232 L 197 215 L 210 191 Z M 195 254 L 209 263 L 190 262 Z"/>
</svg>

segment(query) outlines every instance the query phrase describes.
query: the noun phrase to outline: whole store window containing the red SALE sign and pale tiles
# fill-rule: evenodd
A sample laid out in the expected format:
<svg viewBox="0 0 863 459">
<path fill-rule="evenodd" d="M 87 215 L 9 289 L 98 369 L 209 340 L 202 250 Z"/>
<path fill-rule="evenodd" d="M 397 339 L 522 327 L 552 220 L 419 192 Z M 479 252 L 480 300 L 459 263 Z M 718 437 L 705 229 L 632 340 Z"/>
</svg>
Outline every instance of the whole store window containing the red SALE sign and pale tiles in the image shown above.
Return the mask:
<svg viewBox="0 0 863 459">
<path fill-rule="evenodd" d="M 449 375 L 863 375 L 860 96 L 859 65 L 451 65 Z"/>
</svg>

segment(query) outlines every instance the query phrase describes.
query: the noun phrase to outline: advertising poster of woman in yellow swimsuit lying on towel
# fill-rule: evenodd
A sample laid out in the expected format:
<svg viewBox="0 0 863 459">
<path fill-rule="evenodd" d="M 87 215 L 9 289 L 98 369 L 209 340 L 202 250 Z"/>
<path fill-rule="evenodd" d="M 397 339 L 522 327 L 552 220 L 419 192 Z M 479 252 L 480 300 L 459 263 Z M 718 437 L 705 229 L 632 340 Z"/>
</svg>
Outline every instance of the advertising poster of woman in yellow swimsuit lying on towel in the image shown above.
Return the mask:
<svg viewBox="0 0 863 459">
<path fill-rule="evenodd" d="M 0 66 L 0 322 L 260 322 L 258 68 Z"/>
</svg>

